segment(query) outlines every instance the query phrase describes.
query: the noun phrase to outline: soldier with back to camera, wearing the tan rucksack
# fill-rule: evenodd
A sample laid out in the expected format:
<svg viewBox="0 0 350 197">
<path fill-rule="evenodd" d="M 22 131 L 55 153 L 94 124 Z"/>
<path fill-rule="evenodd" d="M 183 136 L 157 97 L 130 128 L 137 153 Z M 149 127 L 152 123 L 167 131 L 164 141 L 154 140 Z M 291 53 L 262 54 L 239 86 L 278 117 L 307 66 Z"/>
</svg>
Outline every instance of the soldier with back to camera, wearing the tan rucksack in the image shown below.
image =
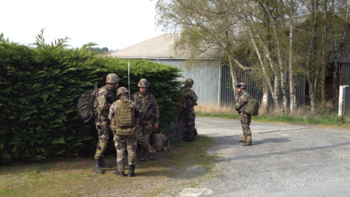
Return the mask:
<svg viewBox="0 0 350 197">
<path fill-rule="evenodd" d="M 140 133 L 140 117 L 139 117 L 139 110 L 136 107 L 136 103 L 133 101 L 129 101 L 127 105 L 130 105 L 134 111 L 135 111 L 135 127 L 130 130 L 135 130 L 134 133 L 130 132 L 131 134 L 124 135 L 123 133 L 120 133 L 118 129 L 115 127 L 115 113 L 117 111 L 118 104 L 122 101 L 128 101 L 129 91 L 127 88 L 120 87 L 117 91 L 117 97 L 119 97 L 119 100 L 114 102 L 109 109 L 108 118 L 111 120 L 110 128 L 113 131 L 114 134 L 114 145 L 115 149 L 117 150 L 117 165 L 118 170 L 114 171 L 115 175 L 124 177 L 124 168 L 125 168 L 125 160 L 127 157 L 128 152 L 128 162 L 130 166 L 130 170 L 128 173 L 128 177 L 133 177 L 135 174 L 135 165 L 136 165 L 136 149 L 137 149 L 137 137 L 136 133 Z M 122 113 L 125 114 L 125 113 Z M 130 117 L 123 117 L 124 119 L 130 118 Z"/>
</svg>

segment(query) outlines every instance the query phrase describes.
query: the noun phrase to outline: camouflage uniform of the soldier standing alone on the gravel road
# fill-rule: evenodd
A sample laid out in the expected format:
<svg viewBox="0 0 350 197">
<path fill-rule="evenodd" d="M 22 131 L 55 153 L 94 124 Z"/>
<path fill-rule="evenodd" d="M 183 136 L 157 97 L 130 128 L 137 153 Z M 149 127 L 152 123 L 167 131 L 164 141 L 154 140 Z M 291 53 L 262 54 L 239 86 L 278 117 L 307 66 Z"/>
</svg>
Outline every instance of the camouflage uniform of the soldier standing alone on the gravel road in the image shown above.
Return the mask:
<svg viewBox="0 0 350 197">
<path fill-rule="evenodd" d="M 244 106 L 247 104 L 247 101 L 252 96 L 248 94 L 248 92 L 244 91 L 241 93 L 238 102 L 235 105 L 235 109 L 238 111 L 239 118 L 241 121 L 242 129 L 243 129 L 243 137 L 241 139 L 241 142 L 245 142 L 247 136 L 252 136 L 251 129 L 249 128 L 249 125 L 251 124 L 252 116 L 245 114 L 242 110 Z"/>
</svg>

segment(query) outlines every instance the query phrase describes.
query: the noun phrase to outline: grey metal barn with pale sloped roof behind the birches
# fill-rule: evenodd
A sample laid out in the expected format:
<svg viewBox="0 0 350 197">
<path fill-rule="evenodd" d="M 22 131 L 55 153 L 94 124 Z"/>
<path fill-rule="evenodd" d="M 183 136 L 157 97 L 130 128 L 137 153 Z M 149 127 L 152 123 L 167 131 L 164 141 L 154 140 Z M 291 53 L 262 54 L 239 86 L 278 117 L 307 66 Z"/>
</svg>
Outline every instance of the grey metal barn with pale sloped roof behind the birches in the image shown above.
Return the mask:
<svg viewBox="0 0 350 197">
<path fill-rule="evenodd" d="M 201 54 L 197 57 L 196 65 L 186 67 L 189 58 L 176 54 L 172 46 L 180 34 L 163 34 L 155 38 L 135 44 L 123 50 L 110 54 L 111 57 L 123 59 L 146 59 L 165 65 L 177 66 L 183 70 L 183 78 L 194 80 L 193 90 L 198 95 L 198 104 L 215 108 L 230 107 L 235 103 L 233 85 L 228 65 L 221 65 L 220 59 L 212 58 L 215 54 Z M 262 89 L 256 84 L 248 72 L 238 71 L 237 80 L 247 84 L 247 91 L 258 101 L 262 101 Z M 287 75 L 287 73 L 286 73 Z M 305 77 L 297 76 L 297 106 L 304 105 Z M 273 105 L 270 96 L 270 105 Z"/>
</svg>

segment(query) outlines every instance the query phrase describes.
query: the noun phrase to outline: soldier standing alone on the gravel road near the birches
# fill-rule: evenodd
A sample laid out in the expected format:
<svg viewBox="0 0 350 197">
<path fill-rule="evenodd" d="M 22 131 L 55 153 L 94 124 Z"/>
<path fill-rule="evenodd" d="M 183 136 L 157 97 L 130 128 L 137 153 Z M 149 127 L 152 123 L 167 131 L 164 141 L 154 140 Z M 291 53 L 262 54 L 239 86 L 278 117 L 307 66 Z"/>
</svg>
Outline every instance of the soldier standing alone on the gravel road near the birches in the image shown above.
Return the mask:
<svg viewBox="0 0 350 197">
<path fill-rule="evenodd" d="M 252 121 L 252 116 L 245 114 L 243 112 L 244 106 L 247 104 L 247 101 L 249 98 L 252 96 L 248 94 L 248 92 L 245 91 L 246 85 L 245 83 L 239 83 L 237 84 L 237 90 L 240 93 L 239 99 L 235 105 L 235 109 L 238 111 L 239 118 L 241 120 L 241 125 L 243 129 L 243 137 L 239 141 L 243 143 L 243 146 L 248 146 L 252 145 L 252 132 L 251 129 L 249 128 L 249 125 L 251 124 Z"/>
</svg>

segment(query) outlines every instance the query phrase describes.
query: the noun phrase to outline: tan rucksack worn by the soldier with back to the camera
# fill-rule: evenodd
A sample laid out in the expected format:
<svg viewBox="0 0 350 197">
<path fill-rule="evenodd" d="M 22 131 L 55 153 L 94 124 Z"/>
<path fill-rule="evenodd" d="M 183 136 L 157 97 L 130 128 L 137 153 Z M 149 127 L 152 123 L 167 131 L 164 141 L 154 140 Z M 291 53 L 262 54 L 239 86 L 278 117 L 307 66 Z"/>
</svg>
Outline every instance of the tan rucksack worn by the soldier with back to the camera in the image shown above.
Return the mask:
<svg viewBox="0 0 350 197">
<path fill-rule="evenodd" d="M 116 135 L 120 136 L 134 136 L 137 128 L 135 119 L 135 109 L 130 104 L 130 101 L 118 100 L 118 105 L 114 114 L 114 125 L 112 125 Z"/>
</svg>

